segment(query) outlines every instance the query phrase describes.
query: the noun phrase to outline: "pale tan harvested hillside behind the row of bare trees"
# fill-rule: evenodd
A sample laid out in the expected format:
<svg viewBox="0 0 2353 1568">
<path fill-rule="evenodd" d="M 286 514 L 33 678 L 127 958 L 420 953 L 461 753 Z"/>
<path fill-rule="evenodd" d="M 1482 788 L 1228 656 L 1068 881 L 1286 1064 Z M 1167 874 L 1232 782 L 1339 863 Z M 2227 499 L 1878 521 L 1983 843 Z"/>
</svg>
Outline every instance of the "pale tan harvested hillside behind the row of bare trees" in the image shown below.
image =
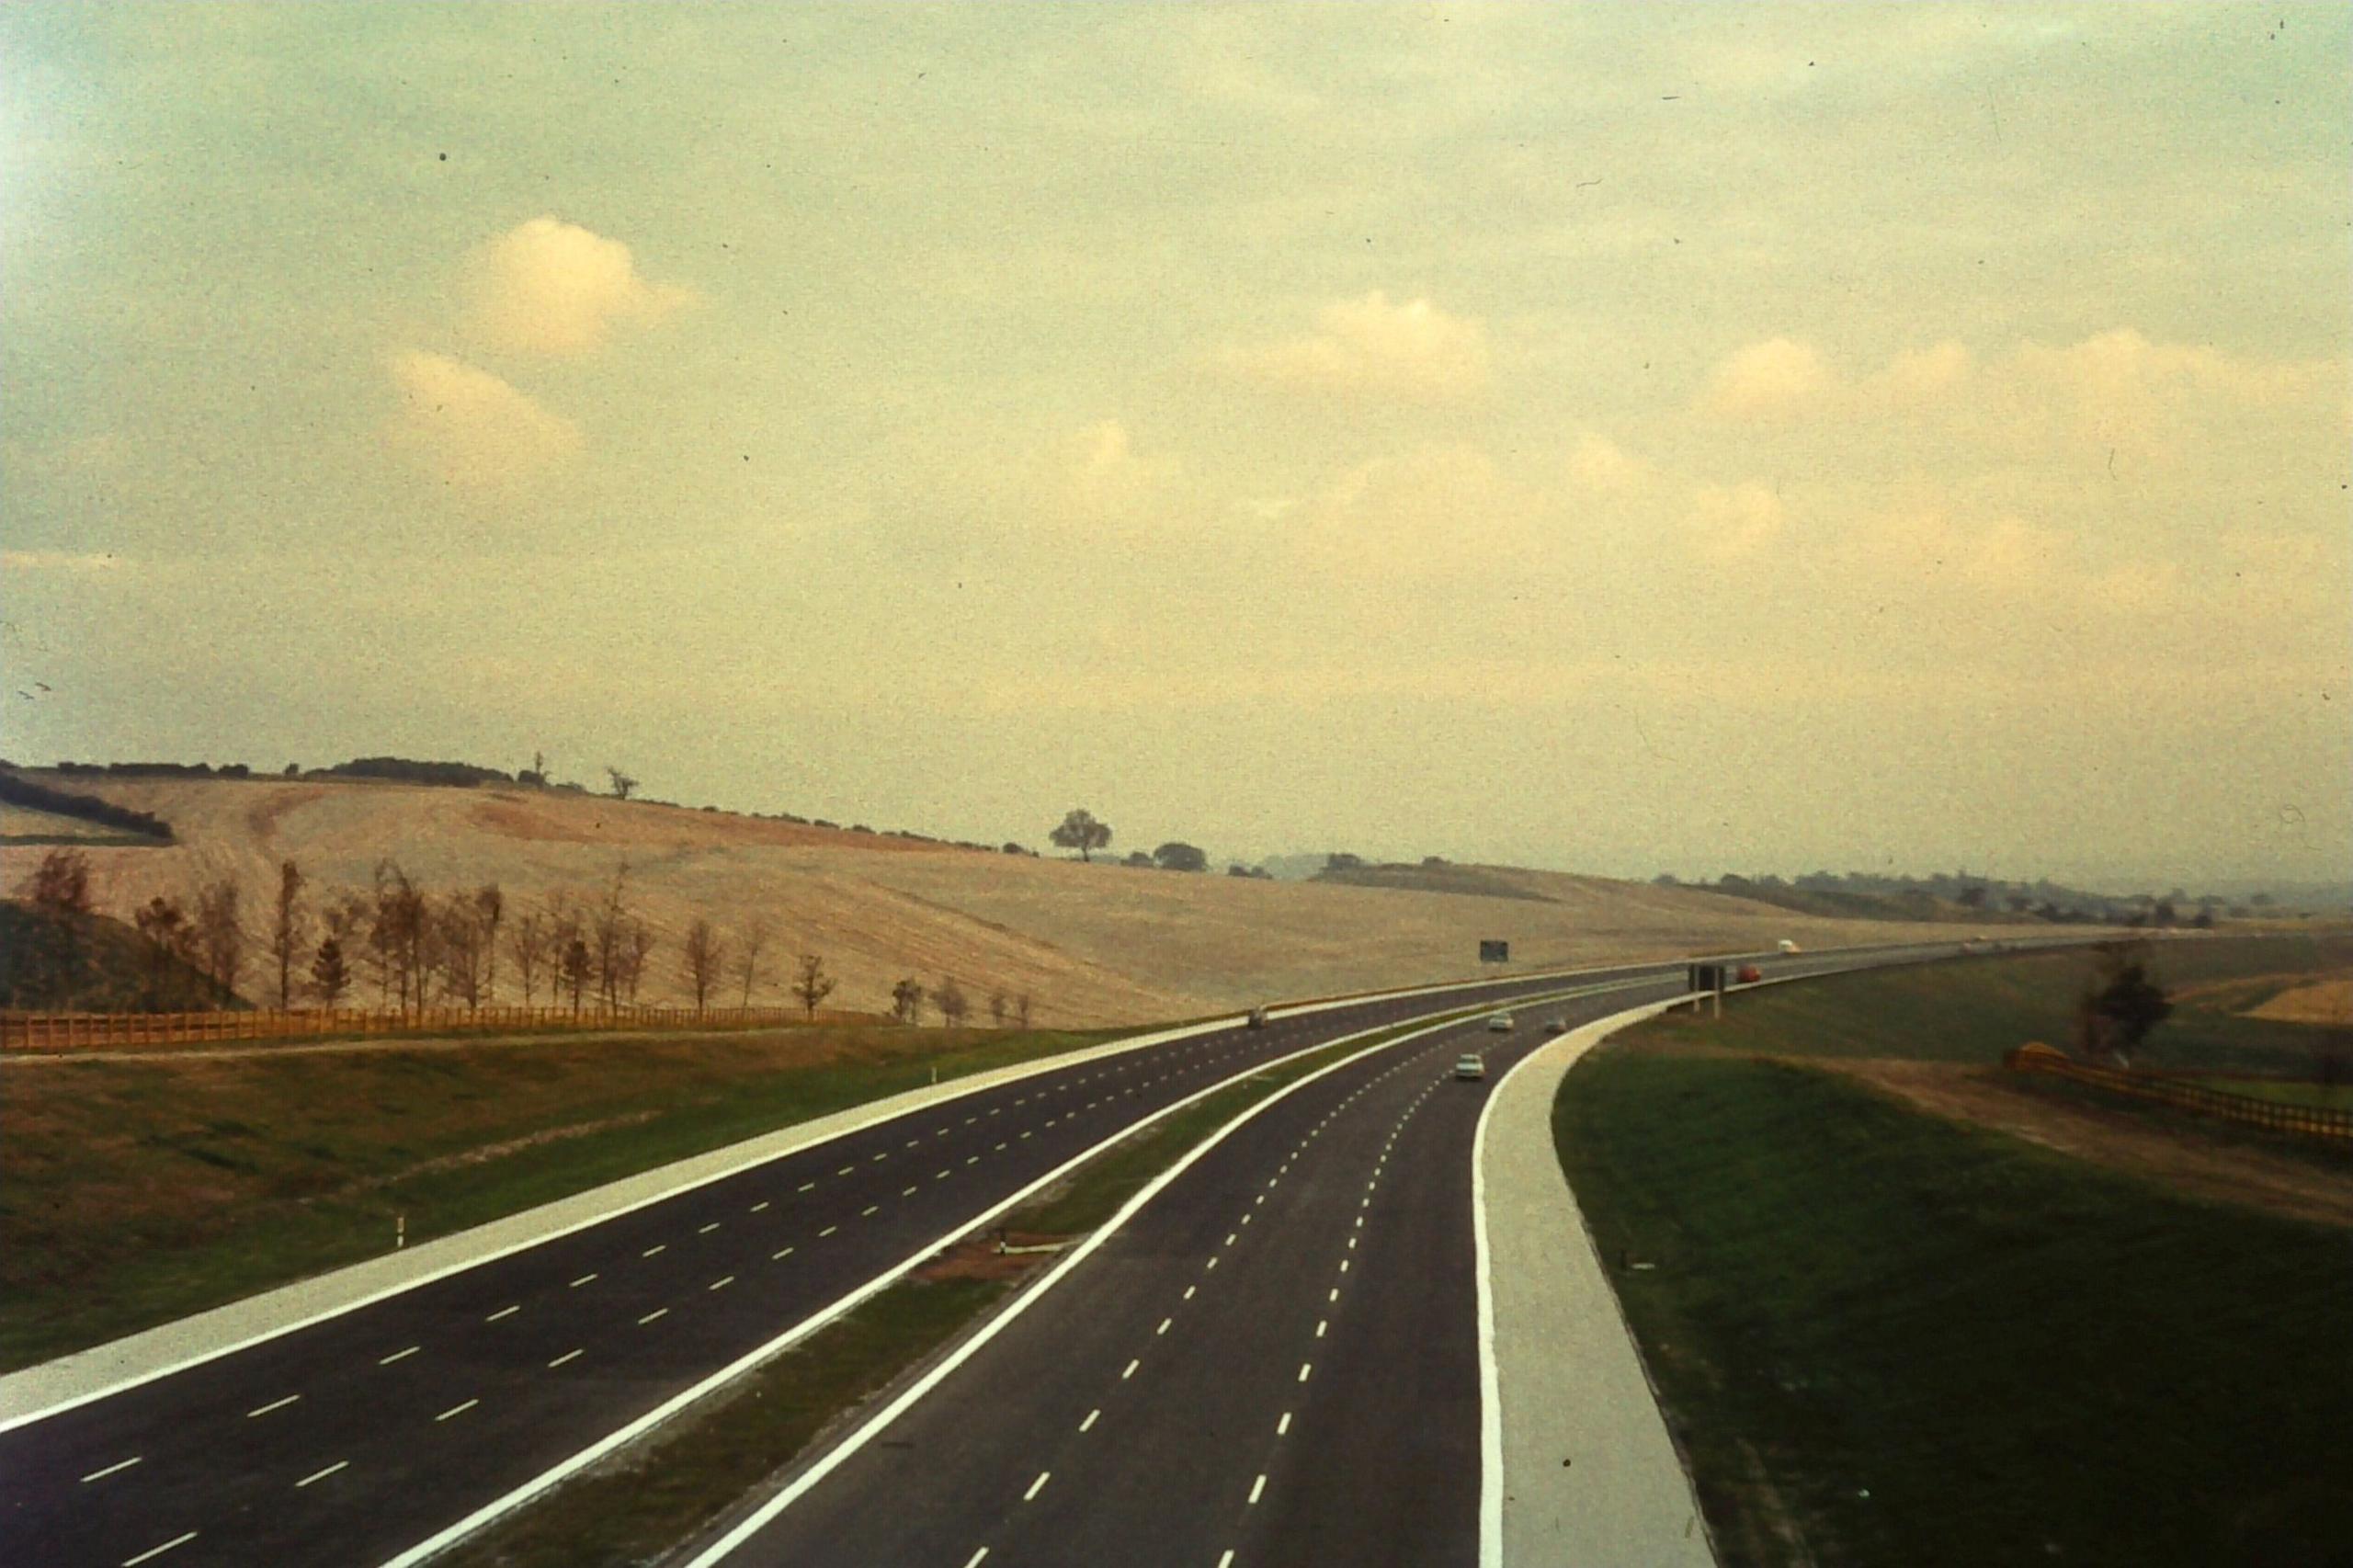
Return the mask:
<svg viewBox="0 0 2353 1568">
<path fill-rule="evenodd" d="M 428 890 L 499 883 L 508 909 L 591 899 L 626 857 L 631 897 L 659 935 L 647 1001 L 687 996 L 680 942 L 696 916 L 722 932 L 767 918 L 767 979 L 781 1001 L 795 954 L 840 975 L 833 1005 L 887 1008 L 892 982 L 953 975 L 986 1017 L 991 991 L 1031 994 L 1040 1024 L 1188 1017 L 1266 996 L 1478 975 L 1478 942 L 1513 944 L 1513 968 L 1657 958 L 1777 937 L 1809 944 L 1920 935 L 1814 921 L 1687 888 L 1485 869 L 1511 897 L 1337 883 L 1278 883 L 1073 864 L 953 845 L 534 789 L 428 789 L 320 779 L 73 779 L 172 822 L 169 848 L 94 848 L 101 911 L 233 873 L 259 928 L 278 862 L 313 902 L 365 890 L 393 857 Z M 14 888 L 38 850 L 0 848 Z M 501 958 L 501 998 L 511 965 Z M 732 998 L 734 991 L 727 989 Z"/>
</svg>

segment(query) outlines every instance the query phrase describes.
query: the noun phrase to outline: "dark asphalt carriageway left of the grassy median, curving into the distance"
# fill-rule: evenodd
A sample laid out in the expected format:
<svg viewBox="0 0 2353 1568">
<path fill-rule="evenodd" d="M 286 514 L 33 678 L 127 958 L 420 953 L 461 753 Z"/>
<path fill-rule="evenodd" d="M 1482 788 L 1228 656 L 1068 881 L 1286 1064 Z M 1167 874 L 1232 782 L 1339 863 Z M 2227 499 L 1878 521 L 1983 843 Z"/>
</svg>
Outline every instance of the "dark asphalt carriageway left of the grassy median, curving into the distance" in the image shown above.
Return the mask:
<svg viewBox="0 0 2353 1568">
<path fill-rule="evenodd" d="M 1657 975 L 1680 984 L 1682 965 L 1581 979 Z M 0 1431 L 0 1561 L 416 1561 L 1136 1121 L 1353 1031 L 1546 986 L 1560 982 L 1374 998 L 1045 1069 L 111 1396 L 16 1417 Z M 1374 1099 L 1402 1116 L 1407 1076 L 1367 1088 L 1348 1125 Z M 1466 1163 L 1454 1165 L 1431 1180 L 1466 1180 Z M 1449 1189 L 1433 1201 L 1459 1208 Z M 1452 1245 L 1449 1224 L 1431 1229 L 1433 1248 Z"/>
</svg>

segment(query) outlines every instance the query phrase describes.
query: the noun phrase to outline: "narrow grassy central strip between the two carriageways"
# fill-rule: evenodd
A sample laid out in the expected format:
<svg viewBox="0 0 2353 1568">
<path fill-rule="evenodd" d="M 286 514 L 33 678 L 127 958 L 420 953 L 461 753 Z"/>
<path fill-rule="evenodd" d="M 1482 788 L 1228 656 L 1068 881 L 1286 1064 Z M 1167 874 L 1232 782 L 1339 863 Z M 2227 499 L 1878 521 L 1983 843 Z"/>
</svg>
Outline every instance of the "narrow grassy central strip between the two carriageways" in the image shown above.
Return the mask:
<svg viewBox="0 0 2353 1568">
<path fill-rule="evenodd" d="M 1242 1109 L 1372 1043 L 1327 1045 L 1165 1116 L 1007 1215 L 1007 1231 L 1068 1238 L 1101 1227 Z M 965 1257 L 951 1253 L 918 1269 L 692 1415 L 471 1537 L 449 1554 L 449 1566 L 569 1568 L 591 1542 L 600 1561 L 659 1559 L 788 1467 L 835 1417 L 944 1354 L 1049 1262 L 1049 1253 L 1000 1260 L 969 1248 Z"/>
</svg>

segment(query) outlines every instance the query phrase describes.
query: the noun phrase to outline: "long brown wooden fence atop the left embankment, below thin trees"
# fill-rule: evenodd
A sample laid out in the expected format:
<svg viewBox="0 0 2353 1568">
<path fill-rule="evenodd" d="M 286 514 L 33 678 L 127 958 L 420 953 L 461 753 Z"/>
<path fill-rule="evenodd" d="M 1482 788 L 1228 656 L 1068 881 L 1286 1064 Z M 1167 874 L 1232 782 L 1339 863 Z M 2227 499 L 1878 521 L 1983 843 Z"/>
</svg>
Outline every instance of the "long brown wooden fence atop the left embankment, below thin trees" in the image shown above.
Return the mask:
<svg viewBox="0 0 2353 1568">
<path fill-rule="evenodd" d="M 0 1050 L 115 1050 L 384 1034 L 522 1034 L 600 1029 L 788 1029 L 871 1024 L 868 1012 L 819 1008 L 254 1008 L 216 1012 L 7 1012 Z"/>
</svg>

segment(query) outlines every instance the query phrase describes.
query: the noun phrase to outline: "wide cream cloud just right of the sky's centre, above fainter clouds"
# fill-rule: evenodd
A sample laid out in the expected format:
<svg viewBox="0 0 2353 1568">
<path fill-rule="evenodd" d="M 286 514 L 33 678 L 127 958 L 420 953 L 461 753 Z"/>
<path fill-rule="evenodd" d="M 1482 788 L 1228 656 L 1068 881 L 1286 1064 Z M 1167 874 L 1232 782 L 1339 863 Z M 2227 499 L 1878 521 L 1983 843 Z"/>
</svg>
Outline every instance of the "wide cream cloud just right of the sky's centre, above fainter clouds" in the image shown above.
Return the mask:
<svg viewBox="0 0 2353 1568">
<path fill-rule="evenodd" d="M 1447 403 L 1487 386 L 1487 327 L 1428 299 L 1391 304 L 1374 290 L 1327 304 L 1306 337 L 1226 348 L 1221 363 L 1289 391 Z"/>
</svg>

